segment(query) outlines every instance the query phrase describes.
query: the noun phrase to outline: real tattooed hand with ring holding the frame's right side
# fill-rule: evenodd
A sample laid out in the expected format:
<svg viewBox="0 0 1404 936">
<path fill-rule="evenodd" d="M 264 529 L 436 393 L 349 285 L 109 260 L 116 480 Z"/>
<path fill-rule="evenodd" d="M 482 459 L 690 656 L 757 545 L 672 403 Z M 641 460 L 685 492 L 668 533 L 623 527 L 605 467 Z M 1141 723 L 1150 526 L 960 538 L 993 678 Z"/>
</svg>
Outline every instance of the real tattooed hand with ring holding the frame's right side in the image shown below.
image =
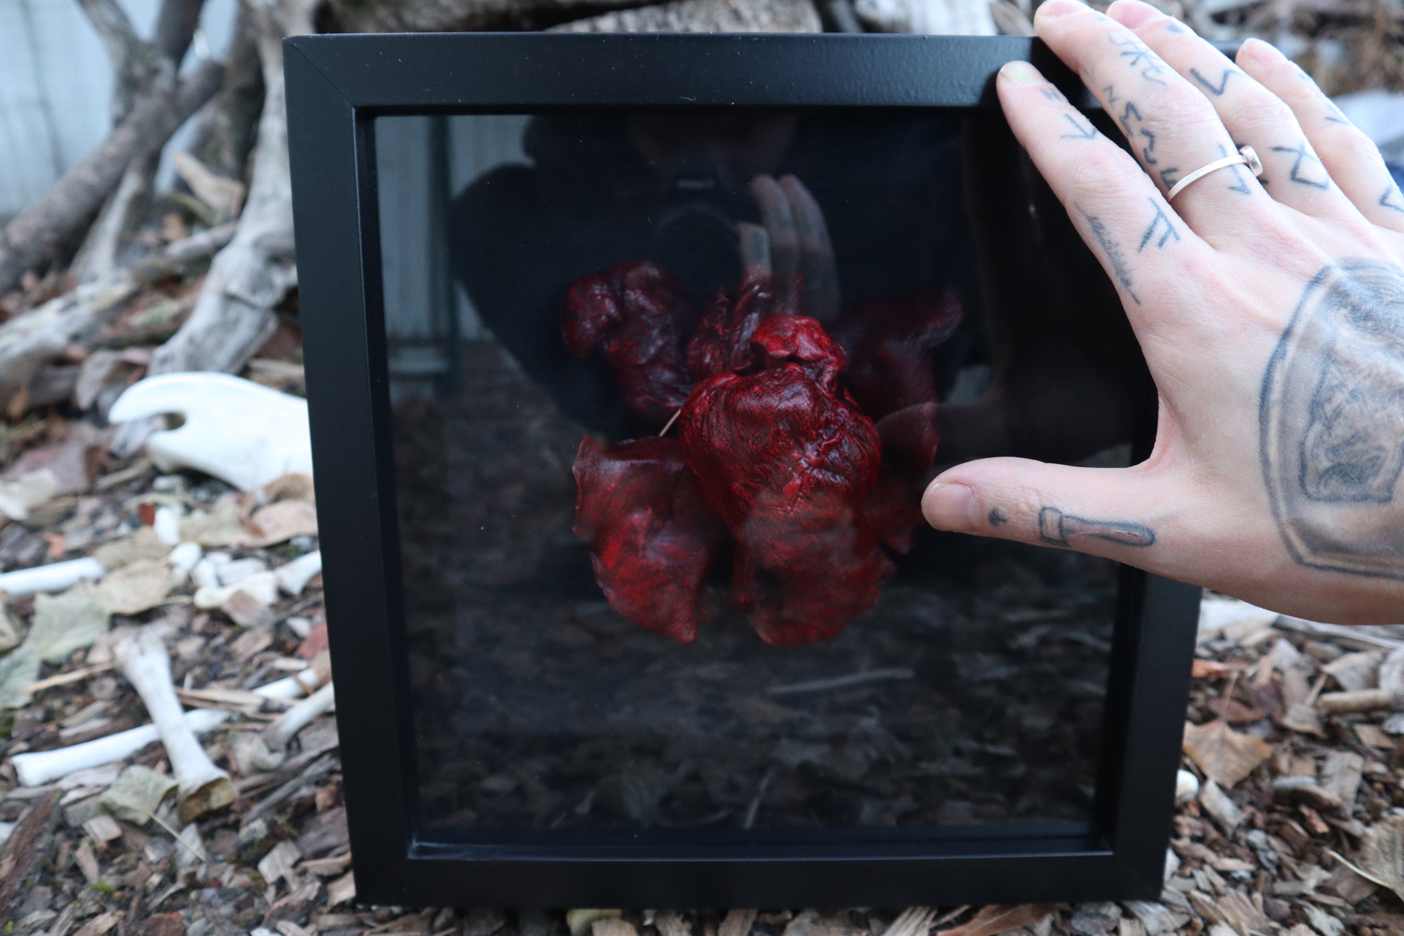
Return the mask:
<svg viewBox="0 0 1404 936">
<path fill-rule="evenodd" d="M 1230 62 L 1140 0 L 1047 0 L 1036 25 L 1130 149 L 1031 65 L 1000 72 L 1140 341 L 1155 446 L 1129 469 L 969 462 L 927 490 L 927 519 L 1316 620 L 1404 620 L 1404 196 L 1379 152 L 1265 42 Z M 1259 180 L 1220 168 L 1167 202 L 1243 145 Z"/>
</svg>

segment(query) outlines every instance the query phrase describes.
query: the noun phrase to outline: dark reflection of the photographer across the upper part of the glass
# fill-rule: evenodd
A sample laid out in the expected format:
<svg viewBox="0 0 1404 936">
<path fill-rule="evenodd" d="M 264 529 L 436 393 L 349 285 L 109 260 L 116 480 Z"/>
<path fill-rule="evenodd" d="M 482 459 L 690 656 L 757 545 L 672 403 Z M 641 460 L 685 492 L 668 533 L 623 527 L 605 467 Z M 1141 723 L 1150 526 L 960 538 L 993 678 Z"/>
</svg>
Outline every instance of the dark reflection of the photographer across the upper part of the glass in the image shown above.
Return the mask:
<svg viewBox="0 0 1404 936">
<path fill-rule="evenodd" d="M 932 355 L 941 404 L 879 421 L 899 457 L 903 441 L 931 438 L 932 418 L 939 464 L 1071 462 L 1129 441 L 1140 355 L 1125 316 L 1002 122 L 552 114 L 528 123 L 524 149 L 531 166 L 498 167 L 455 199 L 451 262 L 497 341 L 592 432 L 660 427 L 630 415 L 600 355 L 570 354 L 562 302 L 584 275 L 647 260 L 696 309 L 747 268 L 776 283 L 800 274 L 800 310 L 827 326 L 870 300 L 953 289 L 965 323 Z M 970 365 L 988 366 L 988 386 L 952 399 Z"/>
</svg>

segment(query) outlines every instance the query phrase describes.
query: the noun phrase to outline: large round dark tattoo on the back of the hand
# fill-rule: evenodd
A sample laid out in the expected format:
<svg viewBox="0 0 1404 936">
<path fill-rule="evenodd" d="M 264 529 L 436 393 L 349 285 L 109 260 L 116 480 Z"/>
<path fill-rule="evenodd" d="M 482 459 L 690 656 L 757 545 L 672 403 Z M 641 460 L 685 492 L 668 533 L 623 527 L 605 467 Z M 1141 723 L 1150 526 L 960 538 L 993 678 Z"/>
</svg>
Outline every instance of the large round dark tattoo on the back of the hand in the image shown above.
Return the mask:
<svg viewBox="0 0 1404 936">
<path fill-rule="evenodd" d="M 1404 271 L 1327 267 L 1262 379 L 1259 459 L 1302 566 L 1404 580 Z"/>
</svg>

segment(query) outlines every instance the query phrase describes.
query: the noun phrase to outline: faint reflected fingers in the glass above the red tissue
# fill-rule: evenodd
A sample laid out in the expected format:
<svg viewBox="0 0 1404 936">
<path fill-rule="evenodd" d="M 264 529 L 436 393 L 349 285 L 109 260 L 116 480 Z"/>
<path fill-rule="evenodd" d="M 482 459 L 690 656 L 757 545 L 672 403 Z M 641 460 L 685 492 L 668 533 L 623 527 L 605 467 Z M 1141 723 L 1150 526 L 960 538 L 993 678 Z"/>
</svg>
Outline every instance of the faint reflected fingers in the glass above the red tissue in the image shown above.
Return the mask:
<svg viewBox="0 0 1404 936">
<path fill-rule="evenodd" d="M 837 319 L 838 265 L 819 202 L 793 175 L 782 175 L 779 181 L 757 175 L 751 180 L 751 195 L 761 209 L 761 223 L 739 225 L 741 265 L 774 275 L 776 283 L 802 274 L 804 314 L 823 323 Z"/>
</svg>

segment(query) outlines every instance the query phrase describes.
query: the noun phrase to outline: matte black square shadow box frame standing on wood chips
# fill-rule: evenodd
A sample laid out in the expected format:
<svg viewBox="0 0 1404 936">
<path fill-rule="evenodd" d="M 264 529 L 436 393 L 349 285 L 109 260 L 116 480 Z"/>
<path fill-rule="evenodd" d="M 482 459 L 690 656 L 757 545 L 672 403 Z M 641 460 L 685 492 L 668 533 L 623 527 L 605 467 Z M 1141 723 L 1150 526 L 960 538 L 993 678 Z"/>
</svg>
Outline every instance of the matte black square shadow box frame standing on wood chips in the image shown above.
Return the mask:
<svg viewBox="0 0 1404 936">
<path fill-rule="evenodd" d="M 1025 38 L 341 35 L 286 39 L 289 147 L 327 617 L 361 901 L 497 907 L 842 907 L 1155 898 L 1199 591 L 1123 568 L 1091 834 L 678 832 L 542 845 L 425 838 L 400 627 L 373 118 L 542 108 L 997 111 Z M 1147 439 L 1141 441 L 1141 453 Z M 517 841 L 514 841 L 514 838 Z"/>
</svg>

